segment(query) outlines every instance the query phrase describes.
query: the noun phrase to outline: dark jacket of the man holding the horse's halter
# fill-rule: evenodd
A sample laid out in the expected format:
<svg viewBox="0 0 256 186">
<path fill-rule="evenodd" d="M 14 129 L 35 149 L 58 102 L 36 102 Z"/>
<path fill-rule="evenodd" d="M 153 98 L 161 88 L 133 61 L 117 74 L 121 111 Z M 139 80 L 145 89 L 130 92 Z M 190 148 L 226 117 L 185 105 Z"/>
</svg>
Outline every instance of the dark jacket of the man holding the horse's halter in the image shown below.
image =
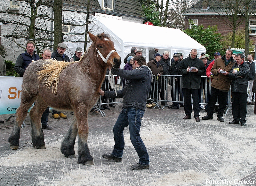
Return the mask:
<svg viewBox="0 0 256 186">
<path fill-rule="evenodd" d="M 146 111 L 146 102 L 152 84 L 153 75 L 150 69 L 142 65 L 134 70 L 123 70 L 112 68 L 114 75 L 126 79 L 123 89 L 116 91 L 105 91 L 105 98 L 124 98 L 123 108 L 135 107 Z"/>
</svg>

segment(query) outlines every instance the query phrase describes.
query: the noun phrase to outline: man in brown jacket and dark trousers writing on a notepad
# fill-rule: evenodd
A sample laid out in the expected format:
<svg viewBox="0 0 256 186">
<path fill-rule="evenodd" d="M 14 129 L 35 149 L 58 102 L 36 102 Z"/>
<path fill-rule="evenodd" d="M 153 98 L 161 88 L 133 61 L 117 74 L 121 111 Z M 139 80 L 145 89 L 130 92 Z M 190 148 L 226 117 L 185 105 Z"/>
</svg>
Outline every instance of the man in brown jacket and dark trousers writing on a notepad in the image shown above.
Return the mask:
<svg viewBox="0 0 256 186">
<path fill-rule="evenodd" d="M 226 108 L 227 95 L 231 83 L 231 79 L 228 78 L 228 74 L 232 69 L 232 66 L 235 64 L 232 54 L 233 51 L 228 49 L 226 51 L 226 55 L 216 59 L 212 66 L 211 72 L 214 74 L 214 76 L 211 83 L 211 95 L 208 102 L 207 115 L 202 117 L 203 120 L 213 118 L 213 109 L 219 96 L 217 120 L 224 122 L 222 116 L 224 109 Z"/>
</svg>

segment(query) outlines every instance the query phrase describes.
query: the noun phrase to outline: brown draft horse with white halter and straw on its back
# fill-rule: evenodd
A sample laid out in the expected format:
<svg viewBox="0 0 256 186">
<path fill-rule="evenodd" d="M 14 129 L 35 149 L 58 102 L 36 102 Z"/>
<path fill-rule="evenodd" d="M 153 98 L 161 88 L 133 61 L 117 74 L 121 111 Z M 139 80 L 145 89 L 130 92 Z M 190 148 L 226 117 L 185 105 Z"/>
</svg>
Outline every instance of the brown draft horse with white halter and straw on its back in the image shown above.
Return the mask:
<svg viewBox="0 0 256 186">
<path fill-rule="evenodd" d="M 115 51 L 114 43 L 106 34 L 101 33 L 94 36 L 89 33 L 89 36 L 93 42 L 84 57 L 79 62 L 69 63 L 62 67 L 63 70 L 60 70 L 58 74 L 59 78 L 55 78 L 51 88 L 49 87 L 49 79 L 52 77 L 44 76 L 40 80 L 39 76 L 40 72 L 45 70 L 44 65 L 51 65 L 52 62 L 38 60 L 30 63 L 23 77 L 21 103 L 16 112 L 12 134 L 8 139 L 11 149 L 19 148 L 20 126 L 27 116 L 29 107 L 35 102 L 35 106 L 29 112 L 33 147 L 45 148 L 44 133 L 40 121 L 48 105 L 57 110 L 74 111 L 73 120 L 60 150 L 66 157 L 75 158 L 74 145 L 78 133 L 77 163 L 93 165 L 93 158 L 87 146 L 88 111 L 95 105 L 100 96 L 98 91 L 105 78 L 106 68 L 108 66 L 119 68 L 121 58 Z M 55 89 L 54 85 L 57 85 Z"/>
</svg>

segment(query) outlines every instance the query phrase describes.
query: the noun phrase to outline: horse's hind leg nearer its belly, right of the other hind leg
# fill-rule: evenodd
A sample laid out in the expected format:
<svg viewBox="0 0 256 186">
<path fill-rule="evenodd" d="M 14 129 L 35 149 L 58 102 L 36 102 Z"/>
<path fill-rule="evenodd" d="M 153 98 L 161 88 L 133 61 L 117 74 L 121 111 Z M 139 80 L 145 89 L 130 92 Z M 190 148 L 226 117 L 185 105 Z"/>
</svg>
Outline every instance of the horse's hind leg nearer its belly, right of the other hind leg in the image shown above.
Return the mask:
<svg viewBox="0 0 256 186">
<path fill-rule="evenodd" d="M 38 97 L 34 107 L 30 110 L 29 116 L 31 120 L 32 145 L 37 149 L 45 149 L 44 132 L 41 128 L 41 117 L 47 108 L 46 103 L 41 97 Z"/>
</svg>

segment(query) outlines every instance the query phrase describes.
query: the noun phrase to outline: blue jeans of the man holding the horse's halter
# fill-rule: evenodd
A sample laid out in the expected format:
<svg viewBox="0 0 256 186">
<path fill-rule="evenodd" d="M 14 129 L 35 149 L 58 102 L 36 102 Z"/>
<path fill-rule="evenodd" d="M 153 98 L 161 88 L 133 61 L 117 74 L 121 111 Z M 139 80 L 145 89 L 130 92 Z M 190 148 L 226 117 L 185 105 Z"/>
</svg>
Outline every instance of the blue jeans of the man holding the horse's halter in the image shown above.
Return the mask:
<svg viewBox="0 0 256 186">
<path fill-rule="evenodd" d="M 124 150 L 124 128 L 129 125 L 130 139 L 140 159 L 142 165 L 149 164 L 149 156 L 142 139 L 140 138 L 140 125 L 145 111 L 139 108 L 123 108 L 114 125 L 115 145 L 112 154 L 121 158 Z"/>
</svg>

